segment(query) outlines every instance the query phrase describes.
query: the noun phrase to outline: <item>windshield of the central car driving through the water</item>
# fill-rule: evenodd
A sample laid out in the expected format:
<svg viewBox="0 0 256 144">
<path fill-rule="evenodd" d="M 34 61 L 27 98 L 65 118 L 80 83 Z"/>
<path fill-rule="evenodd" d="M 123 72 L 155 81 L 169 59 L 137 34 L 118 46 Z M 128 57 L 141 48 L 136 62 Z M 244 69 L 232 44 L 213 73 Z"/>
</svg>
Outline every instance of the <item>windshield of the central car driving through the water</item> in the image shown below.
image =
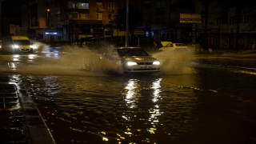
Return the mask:
<svg viewBox="0 0 256 144">
<path fill-rule="evenodd" d="M 149 56 L 143 49 L 129 48 L 129 49 L 118 49 L 120 56 Z"/>
</svg>

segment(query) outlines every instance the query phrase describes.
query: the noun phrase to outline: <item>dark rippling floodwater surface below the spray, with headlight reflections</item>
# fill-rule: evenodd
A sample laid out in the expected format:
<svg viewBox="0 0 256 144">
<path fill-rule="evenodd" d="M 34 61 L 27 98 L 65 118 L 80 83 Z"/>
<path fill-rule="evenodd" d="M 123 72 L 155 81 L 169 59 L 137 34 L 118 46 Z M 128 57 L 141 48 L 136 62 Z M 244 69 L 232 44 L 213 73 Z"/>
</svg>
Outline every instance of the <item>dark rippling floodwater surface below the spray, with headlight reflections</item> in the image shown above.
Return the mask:
<svg viewBox="0 0 256 144">
<path fill-rule="evenodd" d="M 246 74 L 202 68 L 167 76 L 20 78 L 57 143 L 239 143 L 256 138 L 255 122 L 248 121 L 255 118 L 255 82 Z M 246 95 L 239 94 L 241 85 Z"/>
</svg>

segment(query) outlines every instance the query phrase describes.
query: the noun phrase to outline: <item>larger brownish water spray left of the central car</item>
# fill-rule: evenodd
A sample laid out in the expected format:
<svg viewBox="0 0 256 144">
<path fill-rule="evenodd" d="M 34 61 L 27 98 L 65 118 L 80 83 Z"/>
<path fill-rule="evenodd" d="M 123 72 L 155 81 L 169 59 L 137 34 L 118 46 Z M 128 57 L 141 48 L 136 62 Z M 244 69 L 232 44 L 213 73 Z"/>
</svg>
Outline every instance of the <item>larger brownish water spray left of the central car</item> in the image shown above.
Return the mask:
<svg viewBox="0 0 256 144">
<path fill-rule="evenodd" d="M 40 46 L 40 45 L 39 45 Z M 41 46 L 44 54 L 47 49 Z M 34 63 L 19 64 L 18 73 L 57 75 L 106 75 L 122 74 L 122 67 L 116 61 L 102 60 L 101 52 L 110 47 L 63 46 L 61 50 L 46 52 L 35 58 Z M 39 55 L 40 57 L 40 55 Z"/>
</svg>

